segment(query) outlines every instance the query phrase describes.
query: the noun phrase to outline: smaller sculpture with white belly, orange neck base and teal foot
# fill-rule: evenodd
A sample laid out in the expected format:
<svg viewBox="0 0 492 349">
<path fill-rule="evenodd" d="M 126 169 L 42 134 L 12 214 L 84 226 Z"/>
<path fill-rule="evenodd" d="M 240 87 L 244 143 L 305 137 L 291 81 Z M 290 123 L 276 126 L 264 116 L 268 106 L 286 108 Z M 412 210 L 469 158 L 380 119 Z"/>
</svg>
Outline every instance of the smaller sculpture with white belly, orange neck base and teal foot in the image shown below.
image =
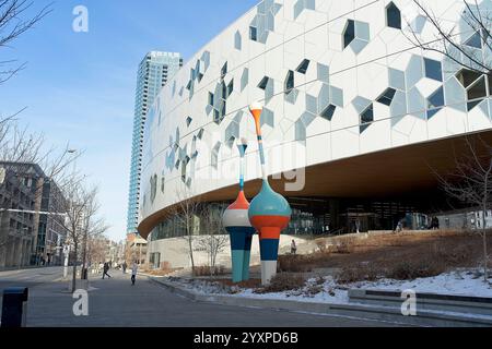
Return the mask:
<svg viewBox="0 0 492 349">
<path fill-rule="evenodd" d="M 244 155 L 247 141 L 242 140 L 237 145 L 239 151 L 239 194 L 236 201 L 227 207 L 222 216 L 222 224 L 231 238 L 232 274 L 233 282 L 249 279 L 249 258 L 251 253 L 251 240 L 255 228 L 248 219 L 249 203 L 244 195 Z"/>
</svg>

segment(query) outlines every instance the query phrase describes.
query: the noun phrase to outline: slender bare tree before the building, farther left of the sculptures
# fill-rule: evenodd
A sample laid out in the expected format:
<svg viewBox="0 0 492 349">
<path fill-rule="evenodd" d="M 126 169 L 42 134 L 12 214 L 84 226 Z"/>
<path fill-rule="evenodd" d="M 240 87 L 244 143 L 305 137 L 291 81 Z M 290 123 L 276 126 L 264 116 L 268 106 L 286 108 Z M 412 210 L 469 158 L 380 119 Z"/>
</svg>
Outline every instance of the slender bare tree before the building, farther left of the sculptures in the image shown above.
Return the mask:
<svg viewBox="0 0 492 349">
<path fill-rule="evenodd" d="M 172 215 L 174 215 L 184 229 L 186 241 L 186 251 L 191 263 L 191 273 L 195 275 L 195 257 L 194 242 L 199 230 L 199 214 L 201 209 L 200 196 L 194 195 L 194 192 L 183 184 L 176 189 L 177 204 L 174 206 Z"/>
</svg>

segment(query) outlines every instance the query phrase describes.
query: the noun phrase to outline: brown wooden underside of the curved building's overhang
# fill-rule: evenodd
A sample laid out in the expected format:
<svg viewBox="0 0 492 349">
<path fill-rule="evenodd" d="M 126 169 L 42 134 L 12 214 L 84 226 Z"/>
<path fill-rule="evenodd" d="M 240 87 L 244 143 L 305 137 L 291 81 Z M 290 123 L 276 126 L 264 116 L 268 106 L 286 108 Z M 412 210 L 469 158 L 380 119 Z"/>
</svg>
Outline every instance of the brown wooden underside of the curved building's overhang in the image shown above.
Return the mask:
<svg viewBox="0 0 492 349">
<path fill-rule="evenodd" d="M 471 144 L 492 144 L 492 131 L 467 136 Z M 456 167 L 456 158 L 467 154 L 464 136 L 448 137 L 410 146 L 345 158 L 307 167 L 305 186 L 301 191 L 285 190 L 284 180 L 270 178 L 272 188 L 286 197 L 394 197 L 426 189 L 435 189 L 435 173 L 446 174 Z M 250 200 L 260 190 L 261 180 L 246 183 L 245 194 Z M 234 201 L 237 185 L 229 185 L 197 197 L 202 202 Z M 164 207 L 147 217 L 139 226 L 143 238 L 169 214 L 176 205 Z"/>
</svg>

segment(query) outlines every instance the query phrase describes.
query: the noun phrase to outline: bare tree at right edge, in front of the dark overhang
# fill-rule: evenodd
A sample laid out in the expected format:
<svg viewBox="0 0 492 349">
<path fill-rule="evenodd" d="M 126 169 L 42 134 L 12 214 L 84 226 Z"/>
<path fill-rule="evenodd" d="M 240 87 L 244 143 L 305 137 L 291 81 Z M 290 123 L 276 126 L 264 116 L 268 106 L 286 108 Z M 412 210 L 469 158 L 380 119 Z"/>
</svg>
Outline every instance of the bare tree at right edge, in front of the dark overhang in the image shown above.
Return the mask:
<svg viewBox="0 0 492 349">
<path fill-rule="evenodd" d="M 483 244 L 483 278 L 488 274 L 487 220 L 492 198 L 492 146 L 481 137 L 465 137 L 466 152 L 455 154 L 455 169 L 445 176 L 437 174 L 445 193 L 453 198 L 482 212 L 479 233 Z"/>
</svg>

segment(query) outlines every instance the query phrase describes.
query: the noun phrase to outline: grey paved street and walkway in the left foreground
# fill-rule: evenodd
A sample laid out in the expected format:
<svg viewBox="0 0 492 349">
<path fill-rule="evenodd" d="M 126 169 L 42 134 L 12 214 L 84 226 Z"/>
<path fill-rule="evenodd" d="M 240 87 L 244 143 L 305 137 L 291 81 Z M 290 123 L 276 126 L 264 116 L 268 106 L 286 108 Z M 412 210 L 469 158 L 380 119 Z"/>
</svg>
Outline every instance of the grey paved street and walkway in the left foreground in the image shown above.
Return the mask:
<svg viewBox="0 0 492 349">
<path fill-rule="evenodd" d="M 113 273 L 112 273 L 113 272 Z M 237 308 L 195 302 L 139 277 L 131 286 L 129 275 L 110 270 L 110 279 L 93 277 L 89 292 L 89 316 L 74 316 L 68 282 L 57 280 L 61 268 L 0 273 L 0 290 L 9 286 L 30 287 L 28 326 L 390 326 L 393 324 L 312 315 L 288 311 Z"/>
</svg>

